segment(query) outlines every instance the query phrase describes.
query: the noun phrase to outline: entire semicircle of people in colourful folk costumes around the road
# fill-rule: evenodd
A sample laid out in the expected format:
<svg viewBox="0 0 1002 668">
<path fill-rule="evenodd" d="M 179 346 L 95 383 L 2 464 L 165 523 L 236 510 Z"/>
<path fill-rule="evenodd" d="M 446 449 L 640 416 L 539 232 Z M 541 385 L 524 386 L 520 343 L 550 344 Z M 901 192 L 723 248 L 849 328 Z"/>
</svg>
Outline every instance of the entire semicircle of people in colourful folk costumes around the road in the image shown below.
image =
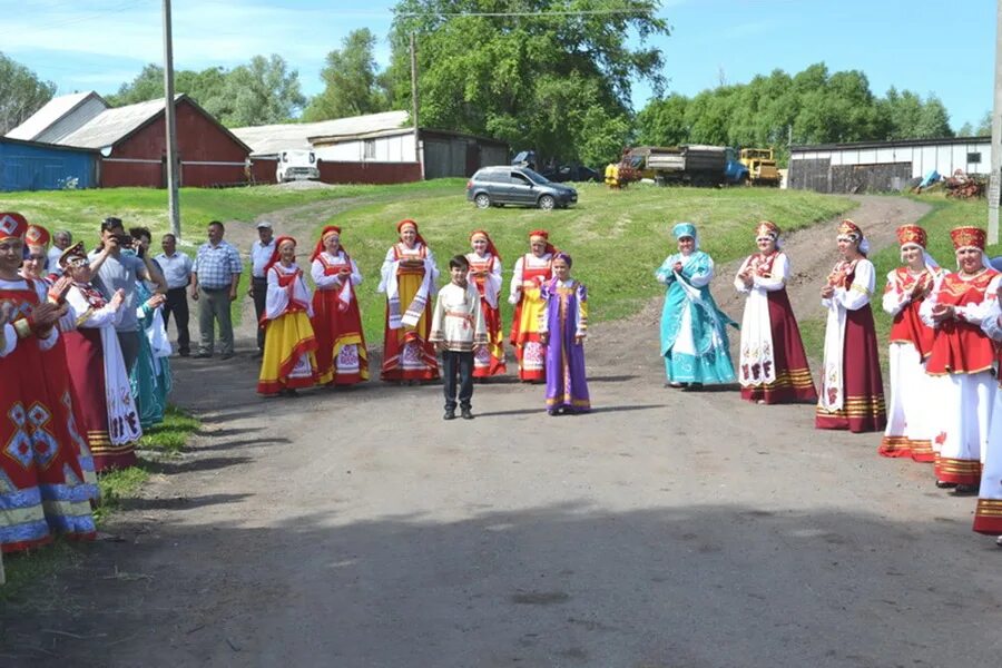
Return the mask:
<svg viewBox="0 0 1002 668">
<path fill-rule="evenodd" d="M 472 419 L 474 381 L 507 373 L 501 255 L 487 232 L 474 230 L 471 250 L 449 259 L 449 281 L 440 288 L 435 256 L 418 223 L 402 220 L 396 232 L 380 273 L 380 377 L 418 384 L 444 372 L 444 419 L 455 419 L 456 410 Z M 926 252 L 925 230 L 898 228 L 902 265 L 886 276 L 882 301 L 893 317 L 886 404 L 871 306 L 876 275 L 855 223 L 838 226 L 839 259 L 821 289 L 827 320 L 819 392 L 786 293 L 792 269 L 779 228 L 767 220 L 755 227 L 757 252 L 734 278 L 746 297 L 740 327 L 710 294 L 714 261 L 700 249 L 696 226 L 679 223 L 672 235 L 677 252 L 655 272 L 666 288 L 660 354 L 669 386 L 698 391 L 737 381 L 741 399 L 753 403 L 814 404 L 817 429 L 883 432 L 880 454 L 933 463 L 937 487 L 979 492 L 974 530 L 1002 544 L 1002 407 L 995 407 L 1002 403 L 1002 275 L 988 262 L 982 229 L 951 233 L 957 269 L 947 272 Z M 315 291 L 296 264 L 296 240 L 276 239 L 259 323 L 263 395 L 370 377 L 356 293 L 363 276 L 341 236 L 340 227 L 327 226 L 316 242 L 310 257 Z M 0 367 L 18 379 L 0 387 L 8 416 L 0 428 L 0 443 L 8 444 L 8 456 L 0 458 L 4 551 L 53 533 L 92 537 L 95 472 L 135 461 L 135 443 L 163 416 L 169 389 L 169 344 L 157 325 L 156 296 L 139 292 L 139 328 L 154 331 L 140 346 L 139 361 L 149 364 L 137 373 L 127 369 L 116 336 L 122 292 L 109 295 L 91 283 L 99 263 L 80 245 L 60 256 L 63 277 L 47 274 L 46 238 L 22 216 L 0 214 Z M 518 377 L 546 383 L 550 415 L 591 409 L 583 350 L 588 291 L 571 277 L 572 266 L 546 230 L 533 230 L 508 291 Z M 729 326 L 740 330 L 736 366 Z M 149 387 L 159 393 L 146 396 Z"/>
</svg>

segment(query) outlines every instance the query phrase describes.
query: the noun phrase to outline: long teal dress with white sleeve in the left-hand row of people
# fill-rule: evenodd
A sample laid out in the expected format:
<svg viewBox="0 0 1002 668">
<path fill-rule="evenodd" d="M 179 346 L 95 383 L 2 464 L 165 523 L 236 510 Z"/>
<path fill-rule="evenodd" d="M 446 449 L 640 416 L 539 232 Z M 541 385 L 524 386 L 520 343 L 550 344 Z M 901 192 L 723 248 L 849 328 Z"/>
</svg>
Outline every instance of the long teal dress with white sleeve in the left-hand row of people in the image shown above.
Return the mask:
<svg viewBox="0 0 1002 668">
<path fill-rule="evenodd" d="M 170 343 L 160 315 L 164 295 L 155 295 L 143 281 L 137 282 L 139 316 L 139 356 L 129 374 L 132 396 L 143 429 L 164 422 L 167 394 L 170 392 Z"/>
</svg>

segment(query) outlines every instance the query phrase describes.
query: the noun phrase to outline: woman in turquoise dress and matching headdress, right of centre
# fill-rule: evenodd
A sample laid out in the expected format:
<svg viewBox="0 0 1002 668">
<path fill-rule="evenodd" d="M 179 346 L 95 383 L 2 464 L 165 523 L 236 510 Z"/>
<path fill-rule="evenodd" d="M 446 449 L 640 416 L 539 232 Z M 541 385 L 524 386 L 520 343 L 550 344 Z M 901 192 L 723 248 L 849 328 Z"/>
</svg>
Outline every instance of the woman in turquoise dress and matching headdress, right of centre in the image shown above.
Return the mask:
<svg viewBox="0 0 1002 668">
<path fill-rule="evenodd" d="M 699 249 L 696 226 L 679 223 L 671 233 L 678 253 L 669 255 L 655 273 L 668 286 L 661 313 L 661 355 L 672 387 L 733 383 L 734 363 L 727 325 L 737 324 L 719 308 L 709 292 L 714 261 Z"/>
</svg>

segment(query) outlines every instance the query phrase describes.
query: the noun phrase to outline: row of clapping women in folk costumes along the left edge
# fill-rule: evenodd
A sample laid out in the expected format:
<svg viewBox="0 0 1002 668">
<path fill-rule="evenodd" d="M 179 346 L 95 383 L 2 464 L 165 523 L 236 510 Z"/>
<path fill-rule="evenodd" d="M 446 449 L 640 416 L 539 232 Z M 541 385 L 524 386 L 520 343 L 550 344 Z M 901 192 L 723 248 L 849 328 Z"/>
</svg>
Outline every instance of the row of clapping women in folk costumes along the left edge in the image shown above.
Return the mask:
<svg viewBox="0 0 1002 668">
<path fill-rule="evenodd" d="M 107 222 L 106 222 L 107 223 Z M 124 230 L 114 227 L 121 240 Z M 102 225 L 104 228 L 104 225 Z M 143 233 L 135 247 L 145 248 Z M 119 243 L 88 256 L 82 244 L 50 266 L 48 230 L 0 213 L 0 549 L 27 550 L 56 534 L 96 536 L 97 473 L 131 466 L 145 428 L 164 419 L 170 345 L 145 266 Z M 129 245 L 132 245 L 131 243 Z M 102 267 L 134 267 L 107 292 Z M 110 282 L 109 282 L 110 283 Z M 159 284 L 159 283 L 158 283 Z M 130 328 L 116 330 L 135 310 Z M 120 337 L 137 342 L 129 367 Z"/>
</svg>

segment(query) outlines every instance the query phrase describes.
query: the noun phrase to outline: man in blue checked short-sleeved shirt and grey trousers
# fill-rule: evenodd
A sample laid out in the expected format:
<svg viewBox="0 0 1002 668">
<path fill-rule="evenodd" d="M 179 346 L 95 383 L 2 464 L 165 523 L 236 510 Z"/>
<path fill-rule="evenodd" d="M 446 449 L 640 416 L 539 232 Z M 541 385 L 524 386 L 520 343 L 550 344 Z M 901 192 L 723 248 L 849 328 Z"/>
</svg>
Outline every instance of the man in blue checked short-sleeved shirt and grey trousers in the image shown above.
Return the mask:
<svg viewBox="0 0 1002 668">
<path fill-rule="evenodd" d="M 240 254 L 223 240 L 226 229 L 218 220 L 208 224 L 208 242 L 198 247 L 191 269 L 191 298 L 198 302 L 200 341 L 196 357 L 212 357 L 215 336 L 213 325 L 219 323 L 223 358 L 233 357 L 233 321 L 229 306 L 237 297 L 240 282 Z"/>
</svg>

